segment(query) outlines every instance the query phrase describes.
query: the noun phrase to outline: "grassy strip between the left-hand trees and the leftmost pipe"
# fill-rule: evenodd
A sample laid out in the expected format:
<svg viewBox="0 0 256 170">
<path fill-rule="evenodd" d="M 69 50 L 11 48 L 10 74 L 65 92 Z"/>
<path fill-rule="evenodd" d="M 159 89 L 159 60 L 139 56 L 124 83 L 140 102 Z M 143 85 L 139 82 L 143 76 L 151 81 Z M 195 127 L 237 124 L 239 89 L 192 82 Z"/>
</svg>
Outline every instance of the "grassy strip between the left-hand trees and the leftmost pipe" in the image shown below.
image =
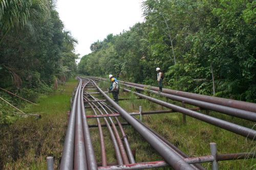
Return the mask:
<svg viewBox="0 0 256 170">
<path fill-rule="evenodd" d="M 46 169 L 46 157 L 54 156 L 55 168 L 62 152 L 67 129 L 67 111 L 77 80 L 59 86 L 52 95 L 41 96 L 39 106 L 28 105 L 26 113 L 40 114 L 20 118 L 0 129 L 0 169 Z"/>
</svg>

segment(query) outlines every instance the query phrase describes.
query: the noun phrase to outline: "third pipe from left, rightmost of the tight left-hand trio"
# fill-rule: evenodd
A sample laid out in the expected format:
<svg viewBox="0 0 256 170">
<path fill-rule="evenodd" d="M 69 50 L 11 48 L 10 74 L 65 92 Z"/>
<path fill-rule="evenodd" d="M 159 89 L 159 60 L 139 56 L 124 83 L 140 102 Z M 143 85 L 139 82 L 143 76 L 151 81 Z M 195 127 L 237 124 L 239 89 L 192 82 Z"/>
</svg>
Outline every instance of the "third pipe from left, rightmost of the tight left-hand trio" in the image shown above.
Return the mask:
<svg viewBox="0 0 256 170">
<path fill-rule="evenodd" d="M 94 154 L 94 149 L 93 149 L 93 144 L 90 136 L 90 131 L 89 127 L 87 124 L 87 119 L 86 119 L 86 110 L 84 109 L 84 104 L 83 104 L 83 90 L 84 87 L 86 87 L 87 84 L 85 84 L 82 88 L 81 91 L 81 96 L 80 96 L 80 101 L 81 101 L 81 114 L 82 114 L 82 125 L 83 125 L 83 134 L 84 134 L 84 140 L 86 144 L 86 157 L 87 157 L 87 164 L 88 164 L 88 169 L 89 170 L 97 170 L 97 161 L 95 158 Z"/>
</svg>

